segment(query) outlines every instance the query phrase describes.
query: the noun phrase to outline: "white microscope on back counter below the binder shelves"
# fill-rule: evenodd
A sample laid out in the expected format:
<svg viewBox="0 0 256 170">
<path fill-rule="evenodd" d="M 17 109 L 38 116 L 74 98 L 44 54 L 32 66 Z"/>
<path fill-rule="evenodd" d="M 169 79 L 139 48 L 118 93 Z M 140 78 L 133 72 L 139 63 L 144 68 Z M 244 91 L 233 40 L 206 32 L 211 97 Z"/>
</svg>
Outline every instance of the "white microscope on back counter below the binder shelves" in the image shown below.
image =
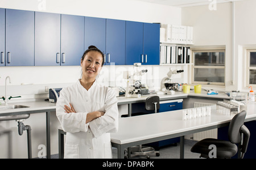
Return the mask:
<svg viewBox="0 0 256 170">
<path fill-rule="evenodd" d="M 164 77 L 161 82 L 161 90 L 164 94 L 175 94 L 174 90 L 179 90 L 179 84 L 172 82 L 173 74 L 182 73 L 184 70 L 176 70 L 170 68 L 170 71 L 167 73 L 168 77 Z"/>
</svg>

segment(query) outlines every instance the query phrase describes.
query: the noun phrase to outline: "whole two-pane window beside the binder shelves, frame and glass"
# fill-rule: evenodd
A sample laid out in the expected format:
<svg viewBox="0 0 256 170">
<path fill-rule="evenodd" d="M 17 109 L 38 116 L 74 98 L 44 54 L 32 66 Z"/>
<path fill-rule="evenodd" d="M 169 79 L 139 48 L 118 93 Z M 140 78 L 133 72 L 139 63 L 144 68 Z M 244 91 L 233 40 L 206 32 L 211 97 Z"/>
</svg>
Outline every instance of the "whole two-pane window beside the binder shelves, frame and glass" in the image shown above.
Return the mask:
<svg viewBox="0 0 256 170">
<path fill-rule="evenodd" d="M 225 85 L 225 49 L 193 49 L 192 59 L 192 84 Z"/>
</svg>

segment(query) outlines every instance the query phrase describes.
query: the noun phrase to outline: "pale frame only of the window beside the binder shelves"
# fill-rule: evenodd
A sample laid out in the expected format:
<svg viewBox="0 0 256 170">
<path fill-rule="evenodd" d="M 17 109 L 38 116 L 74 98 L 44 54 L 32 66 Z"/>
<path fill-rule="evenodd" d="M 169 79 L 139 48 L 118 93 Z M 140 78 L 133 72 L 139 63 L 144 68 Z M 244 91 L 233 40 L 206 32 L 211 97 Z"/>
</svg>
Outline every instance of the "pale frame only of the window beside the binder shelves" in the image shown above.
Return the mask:
<svg viewBox="0 0 256 170">
<path fill-rule="evenodd" d="M 224 65 L 195 65 L 195 52 L 224 52 L 225 59 Z M 191 83 L 192 84 L 203 84 L 203 85 L 214 85 L 214 86 L 225 86 L 226 80 L 226 50 L 223 47 L 204 47 L 204 48 L 191 48 L 191 55 L 192 55 L 192 69 L 191 69 Z M 214 69 L 224 69 L 224 82 L 207 82 L 207 81 L 194 81 L 194 72 L 195 68 L 214 68 Z"/>
</svg>

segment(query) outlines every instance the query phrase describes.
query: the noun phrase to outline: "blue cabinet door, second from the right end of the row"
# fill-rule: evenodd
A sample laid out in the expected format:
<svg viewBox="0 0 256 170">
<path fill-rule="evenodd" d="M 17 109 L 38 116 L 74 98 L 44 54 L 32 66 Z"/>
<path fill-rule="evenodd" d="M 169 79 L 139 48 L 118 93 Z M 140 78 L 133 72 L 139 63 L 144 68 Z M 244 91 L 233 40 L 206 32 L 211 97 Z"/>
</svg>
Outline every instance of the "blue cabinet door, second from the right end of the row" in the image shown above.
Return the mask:
<svg viewBox="0 0 256 170">
<path fill-rule="evenodd" d="M 125 64 L 141 63 L 143 55 L 143 23 L 126 21 Z"/>
</svg>

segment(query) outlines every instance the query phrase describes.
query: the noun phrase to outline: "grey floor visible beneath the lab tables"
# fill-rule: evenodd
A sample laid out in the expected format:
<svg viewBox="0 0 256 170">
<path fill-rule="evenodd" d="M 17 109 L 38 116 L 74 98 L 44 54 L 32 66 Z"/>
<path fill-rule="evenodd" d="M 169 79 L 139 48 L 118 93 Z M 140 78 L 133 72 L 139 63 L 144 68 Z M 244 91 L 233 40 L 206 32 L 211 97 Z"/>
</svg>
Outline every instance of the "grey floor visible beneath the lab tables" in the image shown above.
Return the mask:
<svg viewBox="0 0 256 170">
<path fill-rule="evenodd" d="M 198 159 L 200 154 L 192 153 L 191 147 L 196 143 L 196 141 L 185 139 L 184 145 L 184 158 L 185 159 Z M 117 148 L 112 147 L 113 158 L 117 158 Z M 152 159 L 179 159 L 180 158 L 180 143 L 177 146 L 167 146 L 160 148 L 160 156 L 150 155 Z M 59 155 L 51 155 L 52 159 L 58 159 Z M 146 158 L 145 156 L 137 156 L 134 158 Z"/>
</svg>

